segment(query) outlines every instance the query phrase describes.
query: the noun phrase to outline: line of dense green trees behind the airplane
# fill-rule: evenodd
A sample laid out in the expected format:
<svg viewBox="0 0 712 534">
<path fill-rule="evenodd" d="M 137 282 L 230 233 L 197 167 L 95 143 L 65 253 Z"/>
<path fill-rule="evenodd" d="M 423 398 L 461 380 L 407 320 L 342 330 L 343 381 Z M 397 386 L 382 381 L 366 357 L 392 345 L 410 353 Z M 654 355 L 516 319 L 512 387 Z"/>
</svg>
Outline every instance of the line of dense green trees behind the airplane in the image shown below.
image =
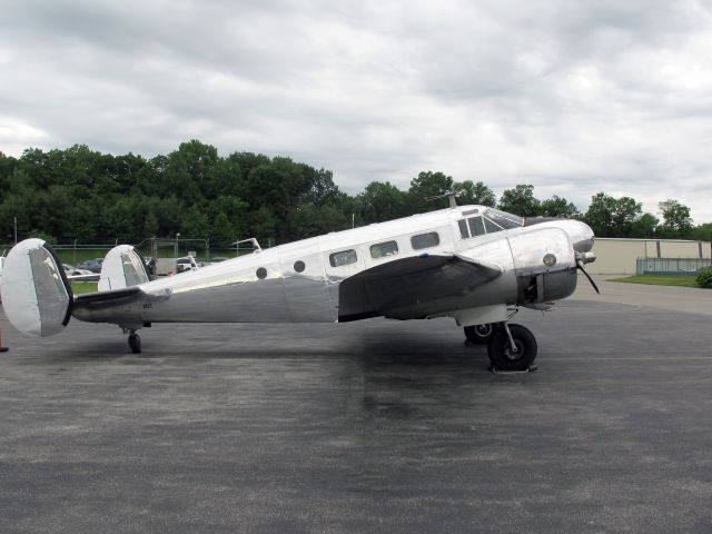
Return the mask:
<svg viewBox="0 0 712 534">
<path fill-rule="evenodd" d="M 355 195 L 334 184 L 332 171 L 286 157 L 253 152 L 218 155 L 191 140 L 168 155 L 147 159 L 113 156 L 76 145 L 19 158 L 0 152 L 0 241 L 42 237 L 50 243 L 138 243 L 147 237 L 209 238 L 228 246 L 257 237 L 288 243 L 352 226 L 406 217 L 457 202 L 497 207 L 523 217 L 585 220 L 600 237 L 662 237 L 709 240 L 712 224 L 694 226 L 690 208 L 660 202 L 659 219 L 630 197 L 592 197 L 586 211 L 563 197 L 537 199 L 534 187 L 517 185 L 497 199 L 482 181 L 456 181 L 423 171 L 402 190 L 372 181 Z M 435 199 L 433 199 L 435 197 Z M 431 200 L 428 200 L 431 199 Z"/>
</svg>

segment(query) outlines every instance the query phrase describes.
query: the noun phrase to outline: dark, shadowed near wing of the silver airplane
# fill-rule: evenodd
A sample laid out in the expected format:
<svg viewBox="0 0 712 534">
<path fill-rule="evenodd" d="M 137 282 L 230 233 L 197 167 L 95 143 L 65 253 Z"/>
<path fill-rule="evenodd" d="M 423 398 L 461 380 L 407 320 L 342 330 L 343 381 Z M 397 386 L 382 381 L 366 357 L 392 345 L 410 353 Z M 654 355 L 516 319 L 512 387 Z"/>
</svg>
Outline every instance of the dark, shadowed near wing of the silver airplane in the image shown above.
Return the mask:
<svg viewBox="0 0 712 534">
<path fill-rule="evenodd" d="M 339 322 L 398 317 L 427 303 L 458 295 L 501 276 L 502 267 L 456 254 L 422 255 L 366 269 L 339 286 Z M 405 313 L 407 316 L 407 312 Z M 405 316 L 403 317 L 405 318 Z"/>
</svg>

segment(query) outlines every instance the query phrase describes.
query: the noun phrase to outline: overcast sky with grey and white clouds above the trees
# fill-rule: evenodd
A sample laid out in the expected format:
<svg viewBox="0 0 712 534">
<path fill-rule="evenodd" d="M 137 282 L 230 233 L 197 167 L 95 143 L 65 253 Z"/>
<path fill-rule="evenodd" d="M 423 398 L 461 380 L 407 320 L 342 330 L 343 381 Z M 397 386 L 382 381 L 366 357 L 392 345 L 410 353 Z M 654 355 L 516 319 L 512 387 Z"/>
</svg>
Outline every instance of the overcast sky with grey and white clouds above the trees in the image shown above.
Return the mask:
<svg viewBox="0 0 712 534">
<path fill-rule="evenodd" d="M 0 0 L 0 151 L 199 139 L 712 221 L 708 0 Z"/>
</svg>

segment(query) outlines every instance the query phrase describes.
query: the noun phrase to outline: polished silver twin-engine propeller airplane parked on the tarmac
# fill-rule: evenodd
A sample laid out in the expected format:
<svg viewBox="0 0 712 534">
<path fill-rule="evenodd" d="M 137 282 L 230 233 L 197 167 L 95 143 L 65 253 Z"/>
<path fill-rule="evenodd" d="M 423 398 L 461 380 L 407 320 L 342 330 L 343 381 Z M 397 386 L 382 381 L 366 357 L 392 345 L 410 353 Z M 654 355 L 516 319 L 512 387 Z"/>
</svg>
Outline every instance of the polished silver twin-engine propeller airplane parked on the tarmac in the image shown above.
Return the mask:
<svg viewBox="0 0 712 534">
<path fill-rule="evenodd" d="M 577 220 L 457 206 L 152 281 L 137 250 L 120 245 L 103 261 L 99 291 L 85 295 L 72 295 L 46 241 L 27 239 L 10 250 L 0 290 L 8 318 L 24 334 L 57 334 L 75 316 L 118 325 L 134 353 L 141 352 L 136 332 L 152 323 L 453 317 L 471 342 L 487 343 L 495 367 L 525 370 L 536 340 L 508 324 L 513 310 L 570 296 L 576 268 L 595 259 L 592 247 L 593 231 Z"/>
</svg>

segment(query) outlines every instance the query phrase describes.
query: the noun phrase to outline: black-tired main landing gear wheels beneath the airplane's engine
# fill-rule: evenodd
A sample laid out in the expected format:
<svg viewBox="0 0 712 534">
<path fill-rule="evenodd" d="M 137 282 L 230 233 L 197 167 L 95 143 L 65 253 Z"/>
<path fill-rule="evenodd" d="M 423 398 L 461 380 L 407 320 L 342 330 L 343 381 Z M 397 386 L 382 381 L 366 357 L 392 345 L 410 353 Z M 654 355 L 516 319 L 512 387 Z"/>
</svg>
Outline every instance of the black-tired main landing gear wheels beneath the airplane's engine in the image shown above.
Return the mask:
<svg viewBox="0 0 712 534">
<path fill-rule="evenodd" d="M 517 324 L 494 323 L 465 327 L 467 340 L 474 344 L 487 344 L 487 355 L 493 372 L 534 370 L 536 358 L 536 338 L 532 332 Z"/>
</svg>

